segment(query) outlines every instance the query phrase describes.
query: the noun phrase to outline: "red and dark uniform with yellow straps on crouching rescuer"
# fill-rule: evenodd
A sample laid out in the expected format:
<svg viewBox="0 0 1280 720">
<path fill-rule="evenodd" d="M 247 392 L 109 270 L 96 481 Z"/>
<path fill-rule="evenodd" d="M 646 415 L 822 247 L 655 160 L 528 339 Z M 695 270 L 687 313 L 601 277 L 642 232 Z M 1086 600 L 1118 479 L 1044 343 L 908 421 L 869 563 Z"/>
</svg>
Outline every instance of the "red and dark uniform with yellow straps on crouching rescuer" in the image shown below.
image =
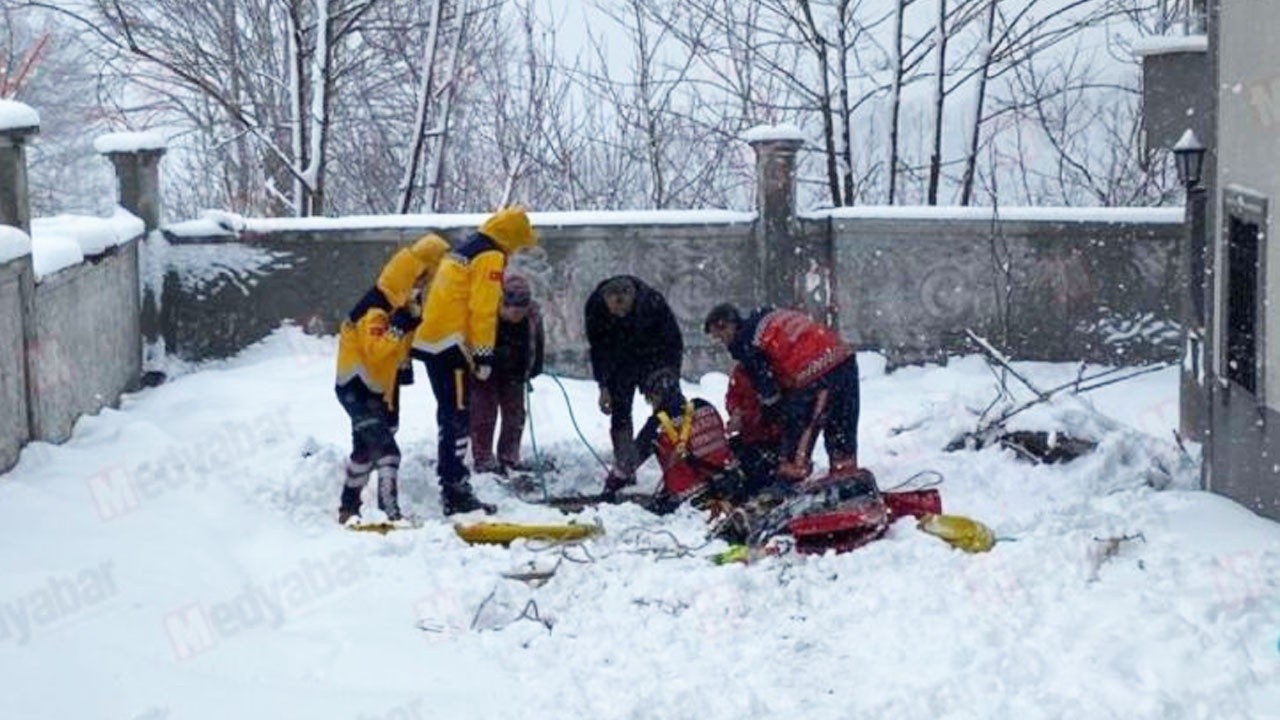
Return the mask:
<svg viewBox="0 0 1280 720">
<path fill-rule="evenodd" d="M 739 478 L 724 423 L 705 400 L 676 396 L 649 416 L 636 438 L 639 462 L 658 456 L 669 509 L 721 492 Z"/>
</svg>

